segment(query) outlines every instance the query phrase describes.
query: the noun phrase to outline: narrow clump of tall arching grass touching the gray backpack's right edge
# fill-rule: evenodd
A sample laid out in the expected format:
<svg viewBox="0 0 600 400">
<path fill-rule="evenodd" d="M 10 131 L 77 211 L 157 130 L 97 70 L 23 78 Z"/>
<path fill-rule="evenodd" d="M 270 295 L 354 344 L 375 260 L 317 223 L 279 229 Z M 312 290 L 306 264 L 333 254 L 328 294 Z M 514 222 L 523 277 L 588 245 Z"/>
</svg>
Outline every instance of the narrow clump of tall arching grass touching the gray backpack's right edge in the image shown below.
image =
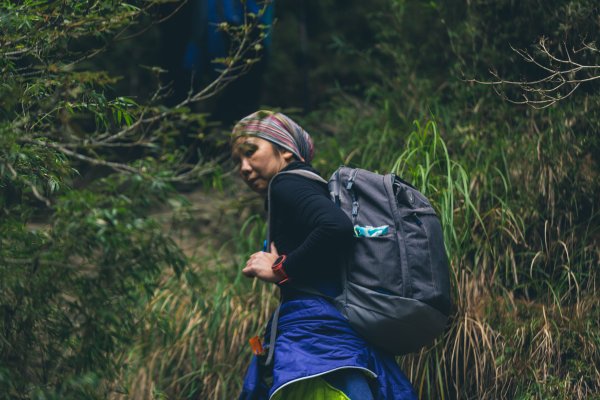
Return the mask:
<svg viewBox="0 0 600 400">
<path fill-rule="evenodd" d="M 455 313 L 450 330 L 432 349 L 405 357 L 402 365 L 421 397 L 454 397 L 473 388 L 482 393 L 494 380 L 497 335 L 478 309 L 487 266 L 473 247 L 472 233 L 479 229 L 484 242 L 489 235 L 472 199 L 470 177 L 451 159 L 436 124 L 415 122 L 414 127 L 392 171 L 411 181 L 438 211 L 451 260 Z"/>
</svg>

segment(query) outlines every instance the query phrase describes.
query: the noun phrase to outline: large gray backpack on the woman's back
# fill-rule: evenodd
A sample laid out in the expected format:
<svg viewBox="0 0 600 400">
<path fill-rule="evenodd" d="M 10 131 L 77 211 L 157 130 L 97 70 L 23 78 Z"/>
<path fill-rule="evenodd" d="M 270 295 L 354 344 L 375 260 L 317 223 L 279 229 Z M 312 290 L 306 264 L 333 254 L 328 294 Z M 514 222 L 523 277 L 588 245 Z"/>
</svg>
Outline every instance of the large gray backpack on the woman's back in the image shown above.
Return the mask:
<svg viewBox="0 0 600 400">
<path fill-rule="evenodd" d="M 306 170 L 285 173 L 327 183 Z M 328 187 L 355 231 L 343 292 L 334 304 L 357 332 L 389 353 L 407 354 L 432 343 L 450 313 L 450 278 L 431 204 L 394 174 L 364 169 L 340 167 Z"/>
</svg>

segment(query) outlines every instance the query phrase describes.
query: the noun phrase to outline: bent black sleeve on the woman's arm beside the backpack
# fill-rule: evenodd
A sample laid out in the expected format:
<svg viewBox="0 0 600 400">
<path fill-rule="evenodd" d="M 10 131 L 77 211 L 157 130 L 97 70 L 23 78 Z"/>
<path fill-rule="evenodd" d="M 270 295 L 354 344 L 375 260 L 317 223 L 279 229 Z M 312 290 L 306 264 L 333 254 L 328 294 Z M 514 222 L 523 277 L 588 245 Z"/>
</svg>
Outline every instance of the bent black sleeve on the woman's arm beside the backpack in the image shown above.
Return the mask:
<svg viewBox="0 0 600 400">
<path fill-rule="evenodd" d="M 291 280 L 318 273 L 323 259 L 336 259 L 352 242 L 350 219 L 327 196 L 321 183 L 300 176 L 282 176 L 271 185 L 271 201 L 278 210 L 294 213 L 294 219 L 308 227 L 308 235 L 283 264 Z"/>
</svg>

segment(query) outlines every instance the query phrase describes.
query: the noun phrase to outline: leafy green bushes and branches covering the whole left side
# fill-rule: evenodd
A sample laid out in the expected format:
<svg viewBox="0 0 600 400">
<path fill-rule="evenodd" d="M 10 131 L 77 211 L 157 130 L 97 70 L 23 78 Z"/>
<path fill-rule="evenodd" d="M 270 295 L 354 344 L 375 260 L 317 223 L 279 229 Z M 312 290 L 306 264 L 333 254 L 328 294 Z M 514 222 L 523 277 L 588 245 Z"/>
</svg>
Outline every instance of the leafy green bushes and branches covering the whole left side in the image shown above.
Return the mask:
<svg viewBox="0 0 600 400">
<path fill-rule="evenodd" d="M 256 61 L 259 27 L 225 26 L 235 51 L 179 104 L 164 104 L 155 67 L 154 91 L 121 96 L 94 61 L 151 28 L 162 3 L 0 2 L 0 398 L 122 392 L 145 308 L 186 267 L 153 213 L 182 204 L 175 185 L 217 176 L 183 145 L 207 126 L 191 107 Z"/>
</svg>

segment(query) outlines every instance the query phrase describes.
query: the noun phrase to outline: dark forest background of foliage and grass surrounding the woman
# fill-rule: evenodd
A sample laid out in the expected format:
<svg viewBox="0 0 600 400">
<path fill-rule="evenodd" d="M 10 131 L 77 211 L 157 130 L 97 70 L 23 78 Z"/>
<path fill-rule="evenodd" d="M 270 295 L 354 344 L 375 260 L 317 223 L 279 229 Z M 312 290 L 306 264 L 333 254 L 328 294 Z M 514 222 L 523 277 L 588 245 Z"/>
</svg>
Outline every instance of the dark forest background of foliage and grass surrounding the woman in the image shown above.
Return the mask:
<svg viewBox="0 0 600 400">
<path fill-rule="evenodd" d="M 600 398 L 597 2 L 248 1 L 218 29 L 202 4 L 0 2 L 0 398 L 236 397 L 276 305 L 228 160 L 258 108 L 323 176 L 393 171 L 438 211 L 420 398 Z"/>
</svg>

